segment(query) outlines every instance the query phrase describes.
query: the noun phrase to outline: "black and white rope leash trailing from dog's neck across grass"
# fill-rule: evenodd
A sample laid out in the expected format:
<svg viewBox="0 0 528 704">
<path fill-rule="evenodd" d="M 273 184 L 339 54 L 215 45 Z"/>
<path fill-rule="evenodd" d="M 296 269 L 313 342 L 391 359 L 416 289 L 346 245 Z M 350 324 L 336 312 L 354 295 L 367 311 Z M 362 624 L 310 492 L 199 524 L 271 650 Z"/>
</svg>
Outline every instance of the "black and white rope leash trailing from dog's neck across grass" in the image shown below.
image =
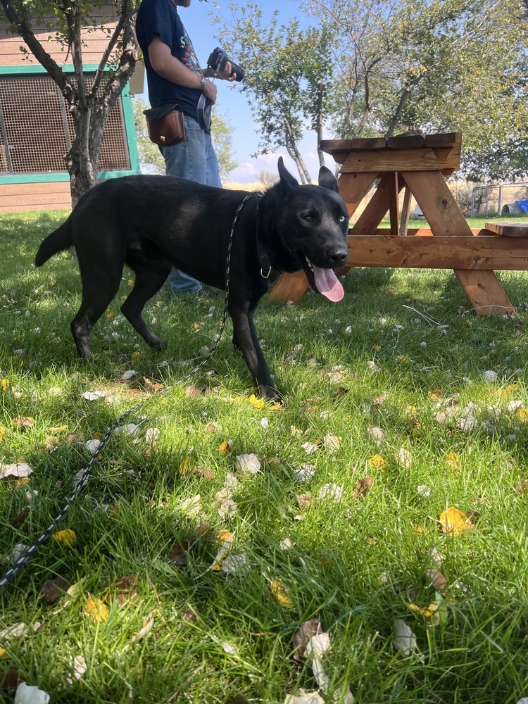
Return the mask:
<svg viewBox="0 0 528 704">
<path fill-rule="evenodd" d="M 201 367 L 206 364 L 206 362 L 210 359 L 212 356 L 213 352 L 215 349 L 218 347 L 220 344 L 220 340 L 222 339 L 222 334 L 225 329 L 225 323 L 227 321 L 227 305 L 229 303 L 229 296 L 230 296 L 230 280 L 231 280 L 231 250 L 232 250 L 232 244 L 233 244 L 233 237 L 234 237 L 234 230 L 237 227 L 237 221 L 240 215 L 240 212 L 242 208 L 244 208 L 244 205 L 246 204 L 247 201 L 251 198 L 253 195 L 258 195 L 259 198 L 262 197 L 262 193 L 260 191 L 251 191 L 244 200 L 240 203 L 239 207 L 237 208 L 237 213 L 234 215 L 233 219 L 233 224 L 230 232 L 230 239 L 227 244 L 227 257 L 226 257 L 226 265 L 225 265 L 225 301 L 224 301 L 224 311 L 222 313 L 222 322 L 220 323 L 220 330 L 218 331 L 218 334 L 216 336 L 215 341 L 213 342 L 213 346 L 210 348 L 208 351 L 206 357 L 201 360 L 199 364 L 196 365 L 196 367 L 189 372 L 186 376 L 184 376 L 183 379 L 181 379 L 180 384 L 183 384 L 184 382 L 187 382 L 187 380 L 196 374 L 199 370 L 201 370 Z M 161 389 L 161 391 L 158 391 L 156 394 L 153 394 L 153 396 L 161 396 L 161 394 L 165 394 L 166 391 L 168 391 L 171 386 L 167 386 L 165 389 Z M 98 460 L 99 456 L 101 455 L 104 446 L 110 439 L 111 435 L 113 432 L 118 429 L 118 427 L 122 424 L 124 420 L 127 419 L 132 413 L 134 413 L 135 410 L 140 408 L 141 406 L 144 405 L 147 401 L 150 401 L 153 396 L 150 396 L 149 398 L 144 398 L 142 401 L 139 401 L 139 403 L 136 403 L 132 408 L 129 408 L 125 413 L 123 413 L 118 420 L 115 421 L 115 423 L 108 428 L 106 431 L 103 439 L 101 440 L 101 444 L 99 444 L 99 447 L 97 448 L 97 451 L 94 453 L 92 459 L 89 461 L 86 467 L 84 467 L 84 470 L 82 471 L 82 474 L 80 475 L 79 479 L 77 479 L 77 483 L 75 484 L 75 487 L 73 488 L 73 491 L 71 492 L 70 496 L 66 499 L 66 503 L 63 506 L 62 510 L 58 515 L 54 518 L 54 520 L 49 524 L 49 526 L 42 532 L 42 534 L 39 536 L 37 541 L 35 541 L 32 546 L 27 548 L 27 550 L 23 553 L 23 555 L 20 555 L 20 558 L 13 562 L 13 565 L 7 570 L 7 572 L 4 574 L 3 577 L 0 578 L 0 589 L 2 589 L 8 582 L 15 577 L 15 574 L 18 574 L 20 570 L 27 564 L 27 562 L 30 561 L 32 558 L 32 555 L 37 552 L 38 548 L 42 545 L 42 543 L 45 543 L 46 540 L 49 539 L 49 537 L 55 532 L 55 529 L 57 525 L 63 520 L 63 517 L 68 513 L 68 509 L 70 506 L 73 504 L 75 501 L 75 498 L 77 497 L 77 494 L 82 490 L 84 487 L 84 484 L 87 483 L 88 477 L 90 472 L 92 472 L 92 467 L 94 467 L 94 464 Z"/>
</svg>

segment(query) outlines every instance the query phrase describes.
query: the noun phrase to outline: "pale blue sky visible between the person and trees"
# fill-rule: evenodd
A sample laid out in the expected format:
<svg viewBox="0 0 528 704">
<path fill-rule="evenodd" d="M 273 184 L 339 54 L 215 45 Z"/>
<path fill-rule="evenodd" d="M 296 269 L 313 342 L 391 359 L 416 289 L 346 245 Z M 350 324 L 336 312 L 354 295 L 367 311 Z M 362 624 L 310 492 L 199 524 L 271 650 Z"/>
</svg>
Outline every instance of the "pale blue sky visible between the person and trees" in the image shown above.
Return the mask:
<svg viewBox="0 0 528 704">
<path fill-rule="evenodd" d="M 308 22 L 306 15 L 301 11 L 299 0 L 258 0 L 256 4 L 262 8 L 263 18 L 271 18 L 272 13 L 278 10 L 280 23 L 287 24 L 288 20 L 294 17 Z M 227 0 L 220 0 L 220 25 L 222 24 L 222 18 L 226 22 L 231 18 L 231 12 L 227 5 Z M 224 7 L 225 11 L 222 10 Z M 217 27 L 211 26 L 209 17 L 210 12 L 216 14 L 217 11 L 211 2 L 192 0 L 189 8 L 180 8 L 179 12 L 203 66 L 206 64 L 210 52 L 213 51 L 215 46 L 218 46 L 218 40 L 215 39 Z M 234 61 L 237 61 L 236 56 L 233 58 Z M 146 102 L 148 101 L 146 96 L 144 96 L 144 99 Z M 297 168 L 287 156 L 285 150 L 277 151 L 272 155 L 251 158 L 250 155 L 258 149 L 258 125 L 253 122 L 247 97 L 240 91 L 238 83 L 228 84 L 219 81 L 217 104 L 232 127 L 232 151 L 235 160 L 239 162 L 239 167 L 232 172 L 230 180 L 239 183 L 256 182 L 260 171 L 277 171 L 277 158 L 281 155 L 284 156 L 284 162 L 290 172 L 295 177 L 298 177 Z M 313 179 L 316 179 L 319 161 L 316 152 L 315 133 L 310 132 L 310 134 L 307 134 L 300 147 L 306 167 Z M 332 161 L 331 158 L 328 159 Z M 332 163 L 327 163 L 327 166 L 331 168 Z"/>
</svg>

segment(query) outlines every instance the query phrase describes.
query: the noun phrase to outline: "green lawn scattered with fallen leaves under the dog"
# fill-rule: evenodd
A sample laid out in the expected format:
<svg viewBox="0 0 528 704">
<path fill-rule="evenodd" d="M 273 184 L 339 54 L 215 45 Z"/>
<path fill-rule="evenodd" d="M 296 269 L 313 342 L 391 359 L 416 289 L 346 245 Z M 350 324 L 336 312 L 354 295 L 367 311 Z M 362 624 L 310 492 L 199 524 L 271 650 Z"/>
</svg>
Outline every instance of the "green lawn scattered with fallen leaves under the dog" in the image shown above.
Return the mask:
<svg viewBox="0 0 528 704">
<path fill-rule="evenodd" d="M 51 539 L 0 591 L 0 630 L 40 624 L 0 639 L 0 673 L 18 670 L 52 704 L 224 704 L 236 696 L 282 704 L 289 693 L 317 689 L 309 664 L 292 658 L 291 636 L 318 617 L 332 640 L 323 660 L 327 702 L 342 701 L 348 686 L 361 704 L 516 704 L 528 696 L 524 272 L 499 273 L 516 320 L 474 315 L 445 270 L 351 270 L 334 306 L 311 293 L 295 307 L 264 300 L 258 334 L 287 398 L 270 410 L 249 401 L 254 389 L 229 325 L 206 367 L 180 383 L 191 370 L 180 362 L 215 337 L 220 298 L 180 301 L 163 287 L 146 318 L 168 348 L 152 351 L 118 313 L 127 271 L 111 305 L 117 315 L 92 334 L 94 359 L 77 358 L 69 329 L 80 296 L 75 260 L 63 253 L 42 269 L 32 264 L 62 218 L 1 219 L 0 461 L 23 458 L 33 472 L 23 486 L 0 482 L 0 556 L 32 543 L 61 510 L 89 461 L 85 442 L 146 402 L 126 421 L 139 432 L 113 435 L 59 527 L 75 532 L 75 546 Z M 137 374 L 123 382 L 127 370 Z M 496 379 L 486 381 L 486 371 Z M 149 396 L 143 377 L 170 388 Z M 199 394 L 186 393 L 191 384 Z M 107 397 L 84 400 L 96 390 Z M 20 418 L 33 423 L 20 426 Z M 146 439 L 151 428 L 155 444 Z M 382 431 L 378 441 L 372 428 Z M 306 442 L 321 445 L 308 455 Z M 395 459 L 402 450 L 408 466 Z M 215 494 L 237 474 L 242 453 L 256 453 L 262 472 L 238 475 L 237 513 L 221 517 Z M 375 455 L 383 466 L 369 463 Z M 280 465 L 270 467 L 269 457 Z M 304 463 L 315 476 L 299 484 Z M 360 500 L 356 484 L 365 477 L 373 482 Z M 325 484 L 341 488 L 340 503 L 320 498 Z M 310 495 L 309 508 L 301 494 Z M 194 515 L 184 501 L 197 495 Z M 444 534 L 438 520 L 450 506 L 478 514 L 474 528 Z M 246 556 L 249 571 L 208 570 L 220 545 L 196 535 L 205 523 L 235 532 L 232 553 Z M 291 548 L 279 547 L 284 539 Z M 178 567 L 170 552 L 183 540 L 189 562 Z M 408 605 L 434 602 L 427 570 L 435 565 L 447 583 L 446 617 L 429 626 Z M 46 605 L 44 582 L 64 572 L 77 593 Z M 103 598 L 107 579 L 136 574 L 139 600 L 111 600 L 108 619 L 94 621 L 88 596 Z M 272 598 L 273 579 L 293 608 Z M 195 621 L 184 616 L 189 609 L 199 610 Z M 130 644 L 149 617 L 151 632 Z M 396 619 L 416 636 L 410 657 L 394 647 Z M 77 655 L 87 671 L 68 684 Z"/>
</svg>

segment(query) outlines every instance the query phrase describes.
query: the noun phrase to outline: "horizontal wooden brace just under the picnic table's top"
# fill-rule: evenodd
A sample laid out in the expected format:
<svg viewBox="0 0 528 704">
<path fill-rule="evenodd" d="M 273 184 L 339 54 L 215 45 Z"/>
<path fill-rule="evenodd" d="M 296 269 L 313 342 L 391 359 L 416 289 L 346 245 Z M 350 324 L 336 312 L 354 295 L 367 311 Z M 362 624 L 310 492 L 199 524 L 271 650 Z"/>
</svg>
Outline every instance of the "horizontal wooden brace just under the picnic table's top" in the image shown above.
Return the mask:
<svg viewBox="0 0 528 704">
<path fill-rule="evenodd" d="M 439 171 L 453 166 L 451 158 L 439 159 L 432 149 L 379 149 L 351 151 L 341 173 L 381 171 Z"/>
</svg>

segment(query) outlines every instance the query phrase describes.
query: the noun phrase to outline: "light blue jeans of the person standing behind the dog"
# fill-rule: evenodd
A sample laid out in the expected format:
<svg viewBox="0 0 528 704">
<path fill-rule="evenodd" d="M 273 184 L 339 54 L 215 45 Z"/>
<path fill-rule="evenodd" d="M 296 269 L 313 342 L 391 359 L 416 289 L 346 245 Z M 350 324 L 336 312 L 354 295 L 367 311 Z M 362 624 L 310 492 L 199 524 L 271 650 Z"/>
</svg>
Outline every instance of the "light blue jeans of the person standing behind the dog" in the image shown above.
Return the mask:
<svg viewBox="0 0 528 704">
<path fill-rule="evenodd" d="M 184 123 L 184 141 L 174 146 L 161 147 L 165 159 L 165 173 L 168 176 L 179 176 L 206 186 L 221 188 L 218 161 L 210 134 L 204 132 L 198 122 L 189 118 L 189 115 L 184 115 Z M 177 294 L 201 291 L 199 281 L 175 267 L 170 272 L 169 282 Z"/>
</svg>

